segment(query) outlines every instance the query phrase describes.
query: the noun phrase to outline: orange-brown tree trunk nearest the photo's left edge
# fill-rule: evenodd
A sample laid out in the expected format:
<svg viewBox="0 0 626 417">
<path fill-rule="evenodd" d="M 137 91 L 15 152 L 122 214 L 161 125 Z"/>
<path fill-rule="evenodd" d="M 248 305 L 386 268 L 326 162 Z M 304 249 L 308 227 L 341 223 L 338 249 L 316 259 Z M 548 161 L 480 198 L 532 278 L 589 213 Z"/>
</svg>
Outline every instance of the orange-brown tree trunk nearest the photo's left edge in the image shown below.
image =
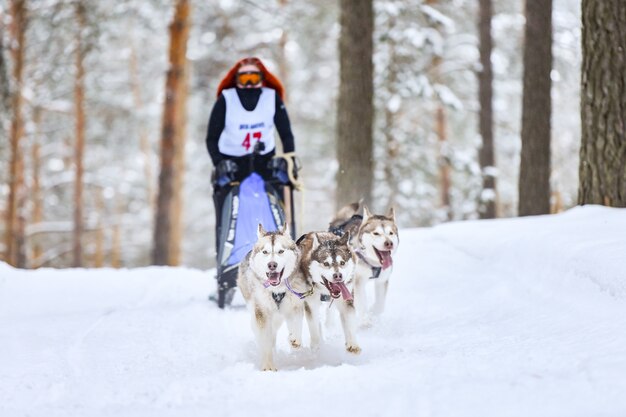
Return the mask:
<svg viewBox="0 0 626 417">
<path fill-rule="evenodd" d="M 22 115 L 22 84 L 24 73 L 24 52 L 26 33 L 26 0 L 13 0 L 11 2 L 11 23 L 10 23 L 10 51 L 13 58 L 13 79 L 15 91 L 12 97 L 13 119 L 11 121 L 10 150 L 11 159 L 9 161 L 9 196 L 6 209 L 5 226 L 5 259 L 13 266 L 19 265 L 22 258 L 24 237 L 20 236 L 19 217 L 22 215 L 21 204 L 24 194 L 24 164 L 22 155 L 22 137 L 24 136 L 24 120 Z"/>
</svg>

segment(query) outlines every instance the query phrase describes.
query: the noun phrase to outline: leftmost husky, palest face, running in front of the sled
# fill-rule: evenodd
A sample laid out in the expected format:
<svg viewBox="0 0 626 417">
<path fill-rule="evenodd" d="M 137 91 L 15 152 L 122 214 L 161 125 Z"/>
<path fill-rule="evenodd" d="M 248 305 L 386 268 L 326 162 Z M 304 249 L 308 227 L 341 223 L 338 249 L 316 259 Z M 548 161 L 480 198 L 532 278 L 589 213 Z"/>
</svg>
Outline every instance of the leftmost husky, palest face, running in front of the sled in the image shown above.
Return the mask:
<svg viewBox="0 0 626 417">
<path fill-rule="evenodd" d="M 287 226 L 266 232 L 259 224 L 258 240 L 239 265 L 237 286 L 252 313 L 252 329 L 261 354 L 264 371 L 275 371 L 276 332 L 287 322 L 289 342 L 300 347 L 302 335 L 302 298 L 307 294 L 296 282 L 299 250 Z M 310 290 L 310 288 L 309 288 Z"/>
</svg>

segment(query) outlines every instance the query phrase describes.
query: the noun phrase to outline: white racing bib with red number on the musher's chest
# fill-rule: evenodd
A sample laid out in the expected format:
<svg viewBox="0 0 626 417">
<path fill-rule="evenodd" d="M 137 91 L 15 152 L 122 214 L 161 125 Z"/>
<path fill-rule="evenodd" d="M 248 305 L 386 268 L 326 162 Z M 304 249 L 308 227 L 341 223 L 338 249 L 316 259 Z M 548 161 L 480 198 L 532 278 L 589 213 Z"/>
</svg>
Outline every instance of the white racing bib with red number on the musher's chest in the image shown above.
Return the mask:
<svg viewBox="0 0 626 417">
<path fill-rule="evenodd" d="M 220 152 L 230 156 L 247 155 L 252 153 L 257 142 L 265 143 L 265 150 L 261 154 L 273 151 L 276 147 L 276 91 L 263 87 L 259 102 L 252 111 L 243 107 L 236 89 L 228 88 L 222 94 L 226 99 L 226 118 L 217 143 Z"/>
</svg>

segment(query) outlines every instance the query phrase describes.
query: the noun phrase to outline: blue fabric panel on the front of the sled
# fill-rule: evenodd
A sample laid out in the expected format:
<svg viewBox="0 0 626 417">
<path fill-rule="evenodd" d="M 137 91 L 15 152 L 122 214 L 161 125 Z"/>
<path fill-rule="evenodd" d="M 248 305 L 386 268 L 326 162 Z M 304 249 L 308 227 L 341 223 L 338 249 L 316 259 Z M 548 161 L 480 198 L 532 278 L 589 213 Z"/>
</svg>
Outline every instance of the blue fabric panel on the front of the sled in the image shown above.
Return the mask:
<svg viewBox="0 0 626 417">
<path fill-rule="evenodd" d="M 252 250 L 257 240 L 259 223 L 268 232 L 278 230 L 265 192 L 265 182 L 253 172 L 239 186 L 239 213 L 235 226 L 235 245 L 228 265 L 239 262 Z"/>
</svg>

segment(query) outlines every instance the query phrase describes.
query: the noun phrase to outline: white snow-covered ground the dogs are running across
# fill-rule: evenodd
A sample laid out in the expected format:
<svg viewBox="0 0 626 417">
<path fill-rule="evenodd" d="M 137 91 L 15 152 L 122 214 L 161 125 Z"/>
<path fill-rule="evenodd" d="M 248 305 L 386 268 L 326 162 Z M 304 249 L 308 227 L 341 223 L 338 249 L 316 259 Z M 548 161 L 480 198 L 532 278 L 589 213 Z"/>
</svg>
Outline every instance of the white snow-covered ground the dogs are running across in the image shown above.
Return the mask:
<svg viewBox="0 0 626 417">
<path fill-rule="evenodd" d="M 260 372 L 211 271 L 0 264 L 0 416 L 625 416 L 626 210 L 403 230 L 359 356 Z M 305 338 L 305 342 L 307 339 Z"/>
</svg>

